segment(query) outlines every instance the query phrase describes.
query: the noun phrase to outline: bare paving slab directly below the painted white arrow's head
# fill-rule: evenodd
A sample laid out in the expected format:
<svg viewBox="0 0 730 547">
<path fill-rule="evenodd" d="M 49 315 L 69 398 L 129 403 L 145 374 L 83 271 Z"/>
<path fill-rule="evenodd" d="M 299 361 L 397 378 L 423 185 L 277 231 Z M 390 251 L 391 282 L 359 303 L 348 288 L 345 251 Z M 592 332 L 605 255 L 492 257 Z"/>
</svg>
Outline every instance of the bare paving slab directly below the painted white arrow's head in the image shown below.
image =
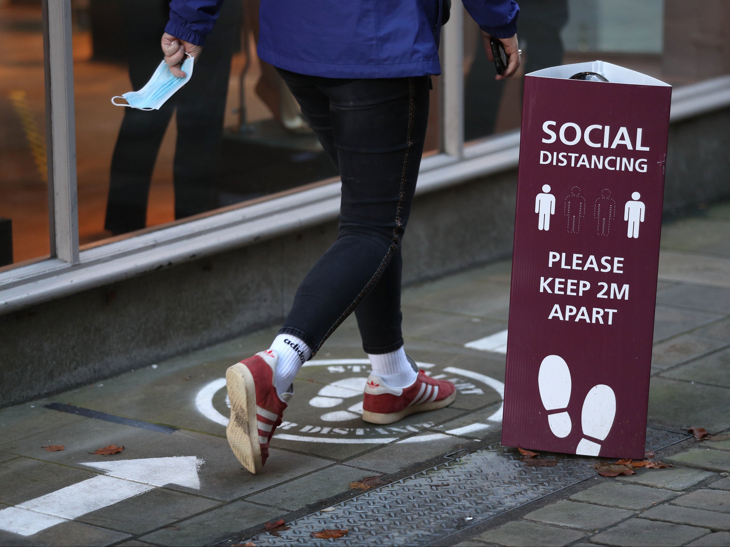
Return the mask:
<svg viewBox="0 0 730 547">
<path fill-rule="evenodd" d="M 220 505 L 220 502 L 157 488 L 92 513 L 86 513 L 76 520 L 140 535 L 216 505 Z"/>
</svg>

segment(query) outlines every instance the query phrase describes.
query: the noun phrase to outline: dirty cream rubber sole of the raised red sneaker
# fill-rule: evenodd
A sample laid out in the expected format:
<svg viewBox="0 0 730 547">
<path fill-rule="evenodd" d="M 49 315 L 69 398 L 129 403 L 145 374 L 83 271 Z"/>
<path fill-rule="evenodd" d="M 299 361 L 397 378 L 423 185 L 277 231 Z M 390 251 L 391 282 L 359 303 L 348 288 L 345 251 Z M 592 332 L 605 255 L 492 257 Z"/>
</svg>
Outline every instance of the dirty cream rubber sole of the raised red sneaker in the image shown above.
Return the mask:
<svg viewBox="0 0 730 547">
<path fill-rule="evenodd" d="M 256 419 L 256 388 L 248 367 L 241 362 L 228 367 L 226 387 L 231 400 L 231 421 L 226 438 L 239 462 L 251 473 L 258 473 L 261 464 L 261 444 L 258 441 Z"/>
</svg>

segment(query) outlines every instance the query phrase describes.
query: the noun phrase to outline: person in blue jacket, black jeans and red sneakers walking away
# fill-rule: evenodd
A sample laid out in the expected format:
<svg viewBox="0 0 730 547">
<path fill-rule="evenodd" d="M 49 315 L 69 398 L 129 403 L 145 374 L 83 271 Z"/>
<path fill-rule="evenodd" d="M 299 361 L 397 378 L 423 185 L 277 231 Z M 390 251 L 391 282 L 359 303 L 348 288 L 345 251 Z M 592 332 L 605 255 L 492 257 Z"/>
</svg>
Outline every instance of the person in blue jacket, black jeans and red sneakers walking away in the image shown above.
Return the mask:
<svg viewBox="0 0 730 547">
<path fill-rule="evenodd" d="M 230 0 L 229 0 L 230 1 Z M 185 54 L 201 53 L 223 0 L 172 0 L 162 37 L 182 77 Z M 485 38 L 504 45 L 511 77 L 520 64 L 518 4 L 464 0 Z M 388 424 L 443 408 L 456 389 L 419 371 L 401 335 L 401 241 L 429 117 L 431 75 L 448 0 L 262 0 L 258 56 L 277 68 L 339 170 L 337 241 L 312 267 L 272 345 L 228 368 L 228 443 L 256 473 L 293 395 L 301 365 L 351 314 L 372 363 L 363 419 Z M 491 59 L 493 60 L 493 59 Z"/>
</svg>

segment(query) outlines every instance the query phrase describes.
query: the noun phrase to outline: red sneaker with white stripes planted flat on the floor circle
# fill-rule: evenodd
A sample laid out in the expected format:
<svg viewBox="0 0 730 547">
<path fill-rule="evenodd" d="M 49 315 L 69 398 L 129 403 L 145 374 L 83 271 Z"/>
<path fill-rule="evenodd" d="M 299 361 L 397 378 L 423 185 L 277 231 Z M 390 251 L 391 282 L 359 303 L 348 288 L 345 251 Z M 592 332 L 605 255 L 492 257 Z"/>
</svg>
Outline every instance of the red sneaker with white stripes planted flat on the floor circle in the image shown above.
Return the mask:
<svg viewBox="0 0 730 547">
<path fill-rule="evenodd" d="M 444 408 L 456 399 L 456 387 L 450 381 L 434 380 L 418 371 L 409 387 L 391 387 L 380 376 L 371 374 L 365 384 L 363 419 L 371 424 L 392 424 L 413 414 Z"/>
</svg>

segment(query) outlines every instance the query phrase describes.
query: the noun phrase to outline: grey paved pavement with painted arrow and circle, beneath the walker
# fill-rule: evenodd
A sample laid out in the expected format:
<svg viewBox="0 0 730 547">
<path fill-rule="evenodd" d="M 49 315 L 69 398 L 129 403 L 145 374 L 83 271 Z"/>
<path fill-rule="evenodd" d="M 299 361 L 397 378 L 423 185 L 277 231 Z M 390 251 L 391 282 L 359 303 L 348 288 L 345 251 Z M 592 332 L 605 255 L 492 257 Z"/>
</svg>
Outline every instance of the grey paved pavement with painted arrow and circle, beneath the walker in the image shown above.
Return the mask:
<svg viewBox="0 0 730 547">
<path fill-rule="evenodd" d="M 261 530 L 284 519 L 297 533 L 313 525 L 306 523 L 370 529 L 372 545 L 389 544 L 394 536 L 381 532 L 391 527 L 408 532 L 402 545 L 730 546 L 728 235 L 726 204 L 664 225 L 648 447 L 673 468 L 602 478 L 589 467 L 596 459 L 544 454 L 558 465 L 532 468 L 499 448 L 505 356 L 465 344 L 507 329 L 510 262 L 502 261 L 404 292 L 407 352 L 431 376 L 455 382 L 452 406 L 390 426 L 363 422 L 358 394 L 369 363 L 347 319 L 301 369 L 287 421 L 257 475 L 228 449 L 223 378 L 229 365 L 266 349 L 276 327 L 0 410 L 0 542 L 193 546 L 255 538 L 278 545 L 288 540 Z M 48 403 L 106 414 L 70 414 Z M 110 422 L 109 415 L 132 420 Z M 690 426 L 714 436 L 688 438 Z M 124 449 L 93 454 L 110 444 Z M 49 445 L 65 448 L 42 448 Z M 156 484 L 160 473 L 172 475 Z M 373 475 L 388 487 L 361 493 L 348 486 Z M 134 490 L 140 484 L 148 485 L 144 492 Z M 124 489 L 131 493 L 118 493 Z M 396 507 L 414 500 L 423 507 L 395 524 Z M 15 506 L 31 502 L 42 518 L 23 521 L 17 515 L 29 512 Z M 337 510 L 322 511 L 330 505 Z M 379 516 L 366 518 L 374 505 Z M 460 516 L 426 533 L 424 511 Z M 297 543 L 317 544 L 304 536 Z"/>
</svg>

